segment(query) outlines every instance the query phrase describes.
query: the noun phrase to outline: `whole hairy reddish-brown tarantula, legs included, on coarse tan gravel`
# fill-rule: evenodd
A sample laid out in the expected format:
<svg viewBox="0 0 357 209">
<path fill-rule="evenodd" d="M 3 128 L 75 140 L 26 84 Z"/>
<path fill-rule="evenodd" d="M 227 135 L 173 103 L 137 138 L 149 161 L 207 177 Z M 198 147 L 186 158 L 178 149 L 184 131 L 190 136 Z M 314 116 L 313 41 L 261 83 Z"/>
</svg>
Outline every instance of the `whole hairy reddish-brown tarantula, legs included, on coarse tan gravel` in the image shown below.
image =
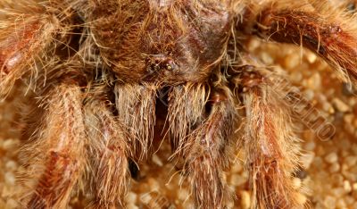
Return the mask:
<svg viewBox="0 0 357 209">
<path fill-rule="evenodd" d="M 83 185 L 94 196 L 92 207 L 124 207 L 129 163 L 152 154 L 154 130 L 162 131 L 154 129 L 159 114 L 197 208 L 225 207 L 230 195 L 222 171 L 243 121 L 239 145 L 247 154 L 253 208 L 297 207 L 291 110 L 273 88 L 274 73 L 247 54 L 245 41 L 258 36 L 301 45 L 342 79 L 357 78 L 355 24 L 315 2 L 3 4 L 0 94 L 20 78 L 29 78 L 37 93 L 22 149 L 27 208 L 64 208 Z M 168 106 L 155 110 L 162 89 L 169 90 Z M 245 108 L 244 120 L 238 107 Z"/>
</svg>

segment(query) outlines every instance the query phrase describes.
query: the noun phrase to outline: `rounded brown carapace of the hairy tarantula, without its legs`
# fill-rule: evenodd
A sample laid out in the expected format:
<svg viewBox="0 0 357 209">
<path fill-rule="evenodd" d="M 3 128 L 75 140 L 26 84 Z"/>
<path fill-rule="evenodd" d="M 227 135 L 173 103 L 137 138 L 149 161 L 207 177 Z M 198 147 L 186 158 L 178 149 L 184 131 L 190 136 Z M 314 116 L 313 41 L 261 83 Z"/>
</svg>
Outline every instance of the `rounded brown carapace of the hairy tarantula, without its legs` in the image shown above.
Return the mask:
<svg viewBox="0 0 357 209">
<path fill-rule="evenodd" d="M 120 13 L 103 13 L 98 6 L 92 16 L 95 20 L 106 20 L 95 23 L 93 31 L 103 46 L 101 53 L 119 77 L 135 81 L 197 82 L 206 79 L 220 63 L 232 27 L 233 15 L 228 12 L 227 3 L 129 4 L 121 5 Z M 113 28 L 118 22 L 126 27 Z"/>
</svg>

